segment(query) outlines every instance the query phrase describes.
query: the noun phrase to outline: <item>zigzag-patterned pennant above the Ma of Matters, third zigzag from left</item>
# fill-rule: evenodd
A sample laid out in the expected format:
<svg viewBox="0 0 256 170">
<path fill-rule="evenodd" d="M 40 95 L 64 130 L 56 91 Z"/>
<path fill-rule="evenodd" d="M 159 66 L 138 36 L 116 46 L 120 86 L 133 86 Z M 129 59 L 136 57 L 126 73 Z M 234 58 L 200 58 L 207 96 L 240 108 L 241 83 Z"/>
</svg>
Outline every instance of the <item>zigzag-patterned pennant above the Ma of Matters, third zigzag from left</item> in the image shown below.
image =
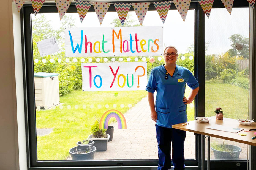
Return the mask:
<svg viewBox="0 0 256 170">
<path fill-rule="evenodd" d="M 122 25 L 124 25 L 124 21 L 128 15 L 131 5 L 132 4 L 130 4 L 130 3 L 115 3 L 114 4 L 116 12 L 118 14 L 118 17 L 119 17 Z"/>
</svg>

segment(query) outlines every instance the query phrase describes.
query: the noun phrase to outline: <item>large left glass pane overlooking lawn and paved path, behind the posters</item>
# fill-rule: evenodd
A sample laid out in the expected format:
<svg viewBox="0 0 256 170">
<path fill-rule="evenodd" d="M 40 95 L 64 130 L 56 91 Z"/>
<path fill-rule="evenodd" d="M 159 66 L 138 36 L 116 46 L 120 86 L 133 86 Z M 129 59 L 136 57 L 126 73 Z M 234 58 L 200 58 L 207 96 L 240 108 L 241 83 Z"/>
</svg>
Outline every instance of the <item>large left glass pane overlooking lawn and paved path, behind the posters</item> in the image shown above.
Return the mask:
<svg viewBox="0 0 256 170">
<path fill-rule="evenodd" d="M 179 50 L 177 64 L 187 67 L 194 73 L 195 10 L 189 10 L 185 23 L 176 10 L 169 11 L 168 16 L 164 24 L 164 46 L 176 46 Z M 87 13 L 82 23 L 77 13 L 67 13 L 61 22 L 56 13 L 37 14 L 36 17 L 34 15 L 31 17 L 34 73 L 57 73 L 58 75 L 54 75 L 53 78 L 53 81 L 58 80 L 57 89 L 50 87 L 50 93 L 59 91 L 56 96 L 59 99 L 56 102 L 43 105 L 42 83 L 39 80 L 41 78 L 35 77 L 38 160 L 71 160 L 69 149 L 75 147 L 78 141 L 87 139 L 92 134 L 95 117 L 100 119 L 102 114 L 110 109 L 116 109 L 124 114 L 127 129 L 118 129 L 116 119 L 111 118 L 108 125 L 114 127 L 113 139 L 107 143 L 107 151 L 95 152 L 94 160 L 158 159 L 156 129 L 155 123 L 150 118 L 147 92 L 83 92 L 81 63 L 104 63 L 105 57 L 65 57 L 65 28 L 120 26 L 117 13 L 107 12 L 102 26 L 95 13 Z M 152 19 L 156 22 L 152 22 Z M 125 23 L 139 26 L 135 12 L 129 12 Z M 163 24 L 156 11 L 148 11 L 143 26 L 163 26 Z M 52 36 L 57 39 L 59 52 L 41 57 L 36 42 Z M 114 61 L 111 60 L 112 58 Z M 129 58 L 133 62 L 136 61 L 133 56 Z M 146 58 L 148 75 L 152 68 L 164 64 L 161 57 L 153 58 L 155 60 L 153 63 L 149 62 L 149 57 Z M 107 62 L 119 62 L 119 59 L 119 57 L 108 57 Z M 122 62 L 127 62 L 128 57 L 122 59 Z M 138 57 L 137 61 L 143 61 L 143 57 Z M 190 88 L 186 88 L 185 95 L 188 96 L 189 92 Z M 194 102 L 187 107 L 187 115 L 189 121 L 194 120 Z M 111 133 L 110 131 L 111 129 L 108 129 L 108 133 Z M 187 132 L 185 158 L 195 158 L 194 141 L 194 134 Z"/>
</svg>

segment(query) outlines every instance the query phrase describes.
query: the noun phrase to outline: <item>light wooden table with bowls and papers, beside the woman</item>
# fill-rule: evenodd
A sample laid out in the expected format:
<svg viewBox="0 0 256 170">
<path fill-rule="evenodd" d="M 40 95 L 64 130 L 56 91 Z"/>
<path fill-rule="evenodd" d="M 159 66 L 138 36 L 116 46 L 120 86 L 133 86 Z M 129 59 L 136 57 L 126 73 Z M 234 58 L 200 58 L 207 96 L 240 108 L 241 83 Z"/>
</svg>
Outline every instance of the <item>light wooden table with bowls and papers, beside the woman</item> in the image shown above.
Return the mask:
<svg viewBox="0 0 256 170">
<path fill-rule="evenodd" d="M 216 120 L 215 116 L 209 117 L 211 120 L 208 123 L 201 123 L 198 122 L 198 120 L 193 120 L 189 121 L 188 125 L 183 126 L 182 124 L 175 124 L 172 125 L 172 128 L 175 129 L 180 129 L 183 131 L 189 131 L 189 132 L 194 132 L 197 134 L 201 134 L 201 156 L 202 156 L 202 167 L 201 169 L 203 170 L 204 163 L 205 163 L 205 135 L 208 136 L 208 151 L 207 151 L 207 169 L 210 169 L 210 136 L 216 137 L 216 138 L 221 138 L 225 140 L 230 140 L 230 141 L 235 141 L 235 142 L 240 142 L 240 143 L 245 143 L 248 145 L 254 145 L 256 146 L 256 139 L 252 139 L 252 137 L 256 136 L 254 132 L 244 132 L 244 130 L 249 130 L 249 129 L 256 129 L 256 123 L 252 123 L 250 126 L 246 125 L 240 125 L 239 122 L 236 119 L 230 119 L 230 118 L 223 118 L 223 120 Z M 243 131 L 240 131 L 238 133 L 231 133 L 231 132 L 224 132 L 224 131 L 218 131 L 218 130 L 213 130 L 213 129 L 206 129 L 207 127 L 213 126 L 215 124 L 223 125 L 223 126 L 228 126 L 228 127 L 233 127 L 233 128 L 243 128 Z M 247 134 L 247 136 L 241 136 L 238 135 L 239 133 Z"/>
</svg>

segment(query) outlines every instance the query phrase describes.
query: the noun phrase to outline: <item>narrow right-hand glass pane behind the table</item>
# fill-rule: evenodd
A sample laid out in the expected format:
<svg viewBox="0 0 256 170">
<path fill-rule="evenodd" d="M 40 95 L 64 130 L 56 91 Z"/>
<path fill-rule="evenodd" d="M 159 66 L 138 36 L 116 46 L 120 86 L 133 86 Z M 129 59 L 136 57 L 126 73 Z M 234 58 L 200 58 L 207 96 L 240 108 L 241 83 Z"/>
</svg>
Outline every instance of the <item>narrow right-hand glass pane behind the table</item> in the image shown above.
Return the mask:
<svg viewBox="0 0 256 170">
<path fill-rule="evenodd" d="M 205 17 L 205 30 L 205 116 L 215 116 L 220 107 L 225 118 L 246 119 L 249 8 L 233 8 L 231 15 L 226 8 L 212 9 L 210 18 Z M 240 44 L 243 49 L 239 49 Z M 211 159 L 247 159 L 247 145 L 211 137 Z"/>
</svg>

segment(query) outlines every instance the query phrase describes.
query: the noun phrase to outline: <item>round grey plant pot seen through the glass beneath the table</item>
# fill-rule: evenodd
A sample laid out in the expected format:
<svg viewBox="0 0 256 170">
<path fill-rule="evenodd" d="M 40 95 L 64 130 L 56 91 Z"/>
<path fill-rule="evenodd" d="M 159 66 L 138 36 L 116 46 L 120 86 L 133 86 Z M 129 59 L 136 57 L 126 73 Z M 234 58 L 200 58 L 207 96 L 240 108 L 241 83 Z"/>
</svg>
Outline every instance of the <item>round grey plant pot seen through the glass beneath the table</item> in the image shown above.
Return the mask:
<svg viewBox="0 0 256 170">
<path fill-rule="evenodd" d="M 242 149 L 239 146 L 235 146 L 235 145 L 219 144 L 219 146 L 223 147 L 224 149 L 228 149 L 230 151 L 229 152 L 219 151 L 211 147 L 211 149 L 213 150 L 215 159 L 238 159 L 240 152 L 242 151 Z"/>
</svg>

